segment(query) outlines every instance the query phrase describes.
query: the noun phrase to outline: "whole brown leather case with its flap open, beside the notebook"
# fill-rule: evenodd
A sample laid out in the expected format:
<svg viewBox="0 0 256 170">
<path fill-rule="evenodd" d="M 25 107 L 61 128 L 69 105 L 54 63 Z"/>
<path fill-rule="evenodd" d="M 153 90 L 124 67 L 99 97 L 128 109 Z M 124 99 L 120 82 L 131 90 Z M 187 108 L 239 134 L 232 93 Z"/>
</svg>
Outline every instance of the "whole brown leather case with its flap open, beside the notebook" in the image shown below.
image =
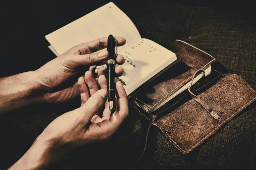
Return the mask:
<svg viewBox="0 0 256 170">
<path fill-rule="evenodd" d="M 220 66 L 214 65 L 215 59 L 194 46 L 176 40 L 171 50 L 182 61 L 136 93 L 129 100 L 129 107 L 150 121 L 150 125 L 159 127 L 170 142 L 186 154 L 255 101 L 256 92 L 238 75 L 222 74 Z M 185 90 L 151 113 L 133 102 L 153 110 L 190 81 L 198 70 L 210 64 L 211 74 L 190 89 L 196 98 Z"/>
</svg>

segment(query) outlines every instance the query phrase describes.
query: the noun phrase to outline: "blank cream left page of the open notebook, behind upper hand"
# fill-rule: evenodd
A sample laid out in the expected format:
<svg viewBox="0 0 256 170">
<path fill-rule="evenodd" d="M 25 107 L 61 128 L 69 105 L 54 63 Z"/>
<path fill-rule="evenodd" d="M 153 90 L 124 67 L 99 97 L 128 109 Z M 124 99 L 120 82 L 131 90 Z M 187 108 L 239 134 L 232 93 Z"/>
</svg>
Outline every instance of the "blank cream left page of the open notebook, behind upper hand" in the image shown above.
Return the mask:
<svg viewBox="0 0 256 170">
<path fill-rule="evenodd" d="M 61 55 L 78 44 L 108 37 L 110 34 L 126 39 L 127 44 L 119 47 L 120 51 L 141 39 L 133 22 L 112 2 L 46 35 L 45 38 Z"/>
</svg>

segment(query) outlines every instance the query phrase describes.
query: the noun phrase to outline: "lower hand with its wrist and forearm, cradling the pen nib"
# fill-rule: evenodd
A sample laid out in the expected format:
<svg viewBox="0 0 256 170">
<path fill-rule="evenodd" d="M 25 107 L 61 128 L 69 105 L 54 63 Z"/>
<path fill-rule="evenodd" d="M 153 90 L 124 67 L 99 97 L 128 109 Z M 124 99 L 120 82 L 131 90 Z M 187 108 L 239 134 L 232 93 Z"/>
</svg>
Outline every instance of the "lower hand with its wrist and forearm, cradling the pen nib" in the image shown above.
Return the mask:
<svg viewBox="0 0 256 170">
<path fill-rule="evenodd" d="M 118 81 L 116 108 L 113 114 L 110 114 L 108 106 L 104 109 L 108 104 L 106 78 L 103 75 L 99 77 L 101 90 L 98 90 L 98 85 L 91 75 L 88 71 L 85 73 L 85 80 L 83 77 L 78 80 L 81 107 L 53 120 L 10 169 L 44 169 L 73 149 L 110 140 L 128 116 L 127 94 L 122 83 Z"/>
</svg>

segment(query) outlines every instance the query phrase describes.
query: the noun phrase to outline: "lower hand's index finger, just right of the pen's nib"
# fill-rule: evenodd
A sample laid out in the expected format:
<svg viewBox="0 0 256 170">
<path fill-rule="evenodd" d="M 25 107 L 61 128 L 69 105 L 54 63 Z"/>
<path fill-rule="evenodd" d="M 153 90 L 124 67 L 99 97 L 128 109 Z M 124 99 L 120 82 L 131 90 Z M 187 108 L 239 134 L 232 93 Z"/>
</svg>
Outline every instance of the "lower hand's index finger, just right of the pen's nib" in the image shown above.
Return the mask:
<svg viewBox="0 0 256 170">
<path fill-rule="evenodd" d="M 116 83 L 116 109 L 120 112 L 128 111 L 128 99 L 123 84 L 118 81 Z"/>
</svg>

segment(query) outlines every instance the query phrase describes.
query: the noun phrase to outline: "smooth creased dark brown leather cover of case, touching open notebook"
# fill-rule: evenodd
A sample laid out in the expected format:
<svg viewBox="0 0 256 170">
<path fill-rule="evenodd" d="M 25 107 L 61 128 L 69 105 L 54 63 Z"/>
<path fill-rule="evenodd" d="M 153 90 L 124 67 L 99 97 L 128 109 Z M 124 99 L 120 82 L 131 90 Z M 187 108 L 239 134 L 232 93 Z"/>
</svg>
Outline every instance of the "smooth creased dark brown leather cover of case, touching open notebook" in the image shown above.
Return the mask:
<svg viewBox="0 0 256 170">
<path fill-rule="evenodd" d="M 172 51 L 181 58 L 174 72 L 166 72 L 134 95 L 133 100 L 146 107 L 149 111 L 154 110 L 166 98 L 186 84 L 199 69 L 207 68 L 215 59 L 208 53 L 197 49 L 183 41 L 176 40 Z M 173 74 L 174 73 L 174 74 Z"/>
</svg>

